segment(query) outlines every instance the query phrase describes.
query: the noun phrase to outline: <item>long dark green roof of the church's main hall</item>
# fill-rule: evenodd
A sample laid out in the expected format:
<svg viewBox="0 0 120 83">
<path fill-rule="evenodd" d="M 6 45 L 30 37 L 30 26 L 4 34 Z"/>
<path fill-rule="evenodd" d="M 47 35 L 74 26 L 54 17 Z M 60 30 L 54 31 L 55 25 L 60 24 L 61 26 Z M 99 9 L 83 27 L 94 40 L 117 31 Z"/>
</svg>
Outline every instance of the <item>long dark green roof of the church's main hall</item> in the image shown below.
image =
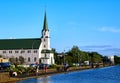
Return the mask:
<svg viewBox="0 0 120 83">
<path fill-rule="evenodd" d="M 0 50 L 38 49 L 40 44 L 41 44 L 40 38 L 1 39 L 0 40 Z"/>
</svg>

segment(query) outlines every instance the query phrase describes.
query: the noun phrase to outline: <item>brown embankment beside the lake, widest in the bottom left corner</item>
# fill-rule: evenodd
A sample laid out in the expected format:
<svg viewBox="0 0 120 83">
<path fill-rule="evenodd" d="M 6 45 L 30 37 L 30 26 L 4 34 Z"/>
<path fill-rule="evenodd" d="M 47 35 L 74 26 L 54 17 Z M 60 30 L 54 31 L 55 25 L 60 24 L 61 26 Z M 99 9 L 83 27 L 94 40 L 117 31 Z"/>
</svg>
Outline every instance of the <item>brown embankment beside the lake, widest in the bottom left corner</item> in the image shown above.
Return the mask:
<svg viewBox="0 0 120 83">
<path fill-rule="evenodd" d="M 100 66 L 103 67 L 103 66 Z M 80 70 L 86 70 L 91 69 L 90 66 L 83 66 L 83 67 L 70 67 L 67 72 L 72 71 L 80 71 Z M 57 69 L 48 69 L 46 72 L 44 70 L 39 70 L 39 72 L 30 74 L 30 75 L 23 75 L 18 77 L 9 77 L 9 72 L 0 73 L 0 83 L 14 83 L 15 81 L 24 80 L 27 78 L 37 78 L 42 77 L 46 75 L 53 75 L 58 73 L 65 73 L 64 71 L 58 71 Z"/>
</svg>

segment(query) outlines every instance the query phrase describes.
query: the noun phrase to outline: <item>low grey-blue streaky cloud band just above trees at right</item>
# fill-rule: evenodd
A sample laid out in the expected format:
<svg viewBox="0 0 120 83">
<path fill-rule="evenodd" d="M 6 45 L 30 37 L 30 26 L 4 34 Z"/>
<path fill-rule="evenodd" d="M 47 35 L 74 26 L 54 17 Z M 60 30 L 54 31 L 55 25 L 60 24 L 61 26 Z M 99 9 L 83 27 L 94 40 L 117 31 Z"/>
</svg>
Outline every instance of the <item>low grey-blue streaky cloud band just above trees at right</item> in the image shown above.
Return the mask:
<svg viewBox="0 0 120 83">
<path fill-rule="evenodd" d="M 118 55 L 120 56 L 120 48 L 114 48 L 110 45 L 88 45 L 81 46 L 81 50 L 88 52 L 98 52 L 104 56 Z"/>
</svg>

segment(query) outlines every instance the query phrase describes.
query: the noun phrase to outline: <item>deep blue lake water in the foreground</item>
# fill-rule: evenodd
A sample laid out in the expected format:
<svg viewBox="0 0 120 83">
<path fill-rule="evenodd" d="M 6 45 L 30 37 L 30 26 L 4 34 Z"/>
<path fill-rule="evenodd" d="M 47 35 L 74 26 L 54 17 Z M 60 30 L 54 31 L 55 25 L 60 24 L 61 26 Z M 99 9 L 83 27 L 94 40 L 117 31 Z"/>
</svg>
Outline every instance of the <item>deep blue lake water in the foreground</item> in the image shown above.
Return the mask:
<svg viewBox="0 0 120 83">
<path fill-rule="evenodd" d="M 31 78 L 16 83 L 120 83 L 120 66 Z"/>
</svg>

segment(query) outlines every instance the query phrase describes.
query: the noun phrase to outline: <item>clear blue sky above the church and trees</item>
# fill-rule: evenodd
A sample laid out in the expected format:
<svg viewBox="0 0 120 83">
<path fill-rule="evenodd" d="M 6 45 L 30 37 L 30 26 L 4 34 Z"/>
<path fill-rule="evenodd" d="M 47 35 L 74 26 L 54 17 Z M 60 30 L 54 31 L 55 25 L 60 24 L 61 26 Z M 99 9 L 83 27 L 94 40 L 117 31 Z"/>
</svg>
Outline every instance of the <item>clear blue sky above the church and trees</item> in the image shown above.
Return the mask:
<svg viewBox="0 0 120 83">
<path fill-rule="evenodd" d="M 58 52 L 120 56 L 120 0 L 0 0 L 0 39 L 40 38 L 45 10 Z"/>
</svg>

